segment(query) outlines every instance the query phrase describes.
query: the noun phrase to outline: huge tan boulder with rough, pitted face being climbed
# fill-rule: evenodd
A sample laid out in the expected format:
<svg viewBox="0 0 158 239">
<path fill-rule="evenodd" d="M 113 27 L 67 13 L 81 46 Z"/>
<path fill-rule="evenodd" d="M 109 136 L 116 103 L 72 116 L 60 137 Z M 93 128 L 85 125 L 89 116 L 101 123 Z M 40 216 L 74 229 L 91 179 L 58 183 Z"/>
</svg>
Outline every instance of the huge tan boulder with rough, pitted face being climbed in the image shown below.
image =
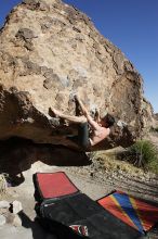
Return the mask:
<svg viewBox="0 0 158 239">
<path fill-rule="evenodd" d="M 70 147 L 76 126 L 49 109 L 75 115 L 75 93 L 118 121 L 95 149 L 129 146 L 152 122 L 141 75 L 85 14 L 60 0 L 23 1 L 0 33 L 0 139 Z"/>
</svg>

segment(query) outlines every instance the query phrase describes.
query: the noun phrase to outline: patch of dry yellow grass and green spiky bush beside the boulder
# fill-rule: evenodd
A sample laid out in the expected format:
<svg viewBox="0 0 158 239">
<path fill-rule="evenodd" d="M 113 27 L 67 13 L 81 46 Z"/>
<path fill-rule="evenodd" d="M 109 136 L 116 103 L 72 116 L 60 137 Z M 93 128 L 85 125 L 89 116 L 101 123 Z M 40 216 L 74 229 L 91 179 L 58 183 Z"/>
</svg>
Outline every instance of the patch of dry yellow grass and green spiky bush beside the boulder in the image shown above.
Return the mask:
<svg viewBox="0 0 158 239">
<path fill-rule="evenodd" d="M 108 151 L 93 153 L 93 159 L 98 161 L 105 169 L 121 171 L 131 175 L 150 172 L 158 174 L 158 150 L 149 140 L 136 141 L 124 150 L 116 148 Z"/>
</svg>

